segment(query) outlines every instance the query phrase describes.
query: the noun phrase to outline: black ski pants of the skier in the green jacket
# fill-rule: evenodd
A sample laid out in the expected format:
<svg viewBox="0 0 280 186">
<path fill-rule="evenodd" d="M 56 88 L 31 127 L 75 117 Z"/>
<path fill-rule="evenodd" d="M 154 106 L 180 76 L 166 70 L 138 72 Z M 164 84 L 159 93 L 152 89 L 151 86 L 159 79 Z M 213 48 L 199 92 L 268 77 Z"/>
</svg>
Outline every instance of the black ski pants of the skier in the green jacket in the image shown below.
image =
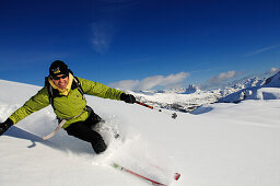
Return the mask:
<svg viewBox="0 0 280 186">
<path fill-rule="evenodd" d="M 98 154 L 107 149 L 102 136 L 94 130 L 94 127 L 102 120 L 103 119 L 92 111 L 86 120 L 71 124 L 66 128 L 66 131 L 70 136 L 90 142 L 94 151 Z"/>
</svg>

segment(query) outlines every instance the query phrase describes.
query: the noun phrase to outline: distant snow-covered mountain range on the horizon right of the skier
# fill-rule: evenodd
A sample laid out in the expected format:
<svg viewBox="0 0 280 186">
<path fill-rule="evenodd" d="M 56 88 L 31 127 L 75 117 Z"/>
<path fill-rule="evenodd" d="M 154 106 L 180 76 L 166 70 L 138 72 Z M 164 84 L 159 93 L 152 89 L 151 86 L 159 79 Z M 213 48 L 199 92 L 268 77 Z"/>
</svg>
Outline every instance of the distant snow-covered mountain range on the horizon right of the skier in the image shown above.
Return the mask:
<svg viewBox="0 0 280 186">
<path fill-rule="evenodd" d="M 257 95 L 256 91 L 260 88 L 279 88 L 280 81 L 277 74 L 270 78 L 247 78 L 228 83 L 229 86 L 201 91 L 196 85 L 186 89 L 173 89 L 163 91 L 131 92 L 143 103 L 161 108 L 174 109 L 178 112 L 192 112 L 197 107 L 215 102 L 238 103 L 249 95 Z M 264 90 L 262 90 L 264 91 Z M 273 92 L 278 92 L 275 89 Z M 278 97 L 278 93 L 271 93 Z M 266 94 L 266 93 L 265 93 Z M 267 95 L 267 94 L 266 94 Z M 256 98 L 256 96 L 252 97 Z M 267 98 L 267 96 L 262 96 Z"/>
</svg>

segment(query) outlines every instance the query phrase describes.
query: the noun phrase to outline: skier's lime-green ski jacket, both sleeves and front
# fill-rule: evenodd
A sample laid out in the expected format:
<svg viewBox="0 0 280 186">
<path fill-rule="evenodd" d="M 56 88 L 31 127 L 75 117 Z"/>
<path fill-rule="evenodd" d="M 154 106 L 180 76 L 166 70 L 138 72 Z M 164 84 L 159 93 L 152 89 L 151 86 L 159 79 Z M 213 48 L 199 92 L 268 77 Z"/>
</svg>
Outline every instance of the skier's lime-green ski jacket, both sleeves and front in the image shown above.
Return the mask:
<svg viewBox="0 0 280 186">
<path fill-rule="evenodd" d="M 98 82 L 93 82 L 82 78 L 78 78 L 78 80 L 81 83 L 84 94 L 103 98 L 120 100 L 120 94 L 124 93 Z M 47 86 L 44 86 L 36 95 L 32 96 L 27 102 L 25 102 L 25 104 L 16 109 L 9 118 L 16 124 L 32 113 L 48 106 L 50 104 L 48 96 Z M 74 88 L 73 85 L 68 96 L 60 94 L 59 96 L 54 97 L 54 112 L 57 117 L 60 119 L 72 118 L 67 120 L 62 128 L 67 128 L 73 123 L 85 120 L 90 116 L 90 113 L 84 109 L 85 106 L 86 101 L 83 98 L 78 88 Z"/>
</svg>

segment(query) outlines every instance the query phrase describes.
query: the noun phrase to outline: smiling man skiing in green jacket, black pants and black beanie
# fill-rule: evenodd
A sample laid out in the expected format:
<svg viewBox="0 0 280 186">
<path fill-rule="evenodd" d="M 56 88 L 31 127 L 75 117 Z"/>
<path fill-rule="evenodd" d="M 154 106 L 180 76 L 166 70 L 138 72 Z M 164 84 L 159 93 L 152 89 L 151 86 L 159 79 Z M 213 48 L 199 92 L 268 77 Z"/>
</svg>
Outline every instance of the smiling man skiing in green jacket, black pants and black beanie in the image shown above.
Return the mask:
<svg viewBox="0 0 280 186">
<path fill-rule="evenodd" d="M 83 94 L 103 98 L 125 101 L 133 104 L 136 97 L 104 84 L 73 77 L 72 71 L 61 61 L 56 60 L 49 68 L 45 86 L 16 109 L 4 123 L 0 123 L 0 136 L 12 125 L 26 116 L 51 104 L 55 114 L 68 135 L 88 141 L 98 154 L 107 146 L 94 126 L 102 120 L 89 106 Z M 52 133 L 54 135 L 54 133 Z"/>
</svg>

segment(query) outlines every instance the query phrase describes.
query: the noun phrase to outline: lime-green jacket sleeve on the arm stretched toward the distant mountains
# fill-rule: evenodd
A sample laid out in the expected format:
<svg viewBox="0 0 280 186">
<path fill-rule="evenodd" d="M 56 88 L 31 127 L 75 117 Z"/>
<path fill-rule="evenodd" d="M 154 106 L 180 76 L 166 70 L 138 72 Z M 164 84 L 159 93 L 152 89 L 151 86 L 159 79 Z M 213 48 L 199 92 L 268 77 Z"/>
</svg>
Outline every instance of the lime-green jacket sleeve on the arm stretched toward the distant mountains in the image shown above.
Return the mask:
<svg viewBox="0 0 280 186">
<path fill-rule="evenodd" d="M 93 82 L 82 78 L 78 78 L 85 94 L 95 95 L 103 98 L 120 101 L 120 94 L 124 93 L 116 89 L 106 86 L 98 82 Z"/>
</svg>

